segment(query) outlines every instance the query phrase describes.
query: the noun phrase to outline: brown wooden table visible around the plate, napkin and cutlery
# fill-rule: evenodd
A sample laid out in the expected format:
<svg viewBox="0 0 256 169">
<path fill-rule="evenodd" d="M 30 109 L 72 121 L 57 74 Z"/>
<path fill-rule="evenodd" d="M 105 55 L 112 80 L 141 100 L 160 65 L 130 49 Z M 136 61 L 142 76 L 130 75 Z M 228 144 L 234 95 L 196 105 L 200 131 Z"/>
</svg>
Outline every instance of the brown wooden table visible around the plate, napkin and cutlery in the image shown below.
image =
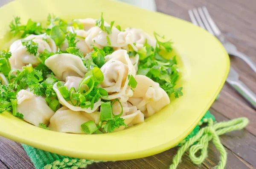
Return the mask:
<svg viewBox="0 0 256 169">
<path fill-rule="evenodd" d="M 8 0 L 1 0 L 5 3 Z M 207 6 L 225 36 L 239 51 L 256 62 L 256 1 L 255 0 L 156 0 L 157 11 L 189 20 L 188 9 Z M 214 50 L 214 49 L 212 49 Z M 210 52 L 210 51 L 209 51 Z M 241 80 L 256 93 L 256 74 L 242 60 L 231 57 L 231 65 L 239 72 Z M 256 111 L 229 85 L 225 84 L 220 97 L 210 108 L 216 120 L 248 117 L 244 130 L 221 136 L 228 152 L 227 169 L 256 169 Z M 195 166 L 186 153 L 179 169 L 209 169 L 218 164 L 219 153 L 209 144 L 208 158 Z M 167 169 L 177 148 L 147 158 L 95 163 L 88 169 Z M 20 143 L 0 137 L 0 169 L 34 169 Z"/>
</svg>

